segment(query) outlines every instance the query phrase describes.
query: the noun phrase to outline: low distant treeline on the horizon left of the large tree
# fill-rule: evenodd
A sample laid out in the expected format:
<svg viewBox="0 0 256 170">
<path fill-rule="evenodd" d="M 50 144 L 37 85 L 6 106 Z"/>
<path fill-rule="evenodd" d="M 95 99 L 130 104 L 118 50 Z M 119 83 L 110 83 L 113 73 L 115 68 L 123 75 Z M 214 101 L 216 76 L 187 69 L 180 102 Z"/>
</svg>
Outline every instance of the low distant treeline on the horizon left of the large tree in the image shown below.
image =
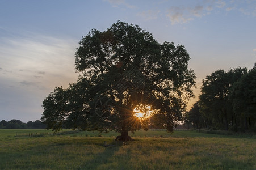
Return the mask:
<svg viewBox="0 0 256 170">
<path fill-rule="evenodd" d="M 12 119 L 10 121 L 2 120 L 0 129 L 45 129 L 46 126 L 39 120 L 35 122 L 28 121 L 27 124 L 20 120 Z"/>
</svg>

